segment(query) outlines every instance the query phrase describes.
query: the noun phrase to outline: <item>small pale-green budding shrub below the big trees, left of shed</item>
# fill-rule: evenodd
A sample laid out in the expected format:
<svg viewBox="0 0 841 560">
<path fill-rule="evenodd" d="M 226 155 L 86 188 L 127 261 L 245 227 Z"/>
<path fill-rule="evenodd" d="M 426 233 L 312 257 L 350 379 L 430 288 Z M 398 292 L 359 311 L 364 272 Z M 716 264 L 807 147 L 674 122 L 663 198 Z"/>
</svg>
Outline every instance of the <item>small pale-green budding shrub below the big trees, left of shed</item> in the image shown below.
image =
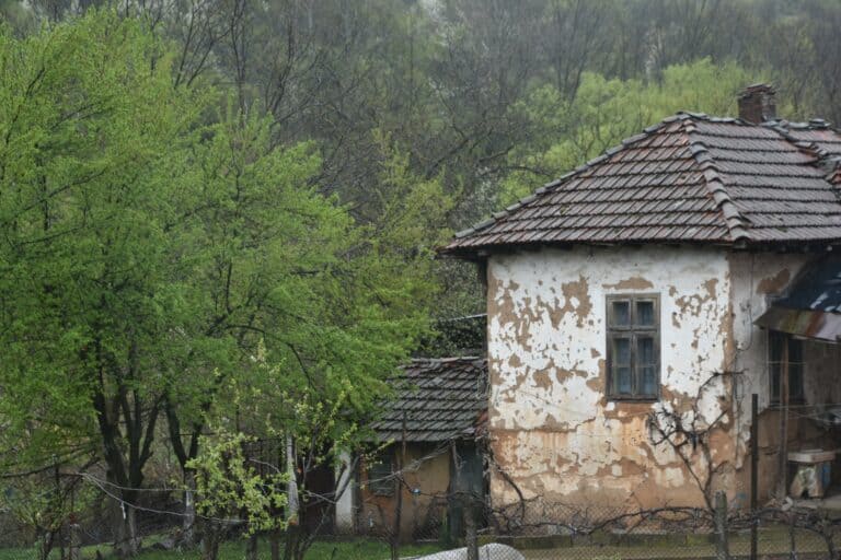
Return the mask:
<svg viewBox="0 0 841 560">
<path fill-rule="evenodd" d="M 188 463 L 209 560 L 216 558 L 221 528 L 232 522 L 244 525 L 254 557 L 254 537 L 268 534 L 273 559 L 303 558 L 319 536 L 309 527 L 325 521 L 307 518 L 319 515 L 308 504 L 336 500 L 347 490 L 316 493 L 324 489 L 312 488 L 311 477 L 323 468 L 352 468 L 342 464 L 339 452 L 355 448 L 367 433 L 348 399 L 352 383 L 333 381 L 335 393 L 327 401 L 323 390 L 300 383 L 296 364 L 266 360 L 260 345 L 252 374 L 229 378 L 224 394 L 240 413 L 214 423 Z M 377 389 L 387 394 L 384 386 Z"/>
</svg>

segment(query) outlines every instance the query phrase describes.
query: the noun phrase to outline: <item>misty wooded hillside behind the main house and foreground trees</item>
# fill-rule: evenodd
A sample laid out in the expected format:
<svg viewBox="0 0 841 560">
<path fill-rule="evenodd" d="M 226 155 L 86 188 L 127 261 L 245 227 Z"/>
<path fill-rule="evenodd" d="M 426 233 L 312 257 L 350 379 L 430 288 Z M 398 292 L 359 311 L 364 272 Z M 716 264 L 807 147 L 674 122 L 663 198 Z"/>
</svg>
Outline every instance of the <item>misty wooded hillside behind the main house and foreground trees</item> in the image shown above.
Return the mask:
<svg viewBox="0 0 841 560">
<path fill-rule="evenodd" d="M 101 1 L 3 0 L 18 34 Z M 107 3 L 107 2 L 106 2 Z M 676 110 L 733 115 L 772 82 L 785 118 L 841 121 L 833 0 L 117 2 L 173 47 L 173 82 L 229 91 L 270 142 L 311 142 L 311 183 L 375 228 L 460 229 Z M 431 190 L 431 191 L 429 191 Z M 420 194 L 415 192 L 416 197 Z M 393 223 L 392 223 L 393 225 Z M 458 275 L 442 265 L 443 279 Z M 459 282 L 461 283 L 461 282 Z M 441 316 L 475 312 L 449 287 Z"/>
</svg>

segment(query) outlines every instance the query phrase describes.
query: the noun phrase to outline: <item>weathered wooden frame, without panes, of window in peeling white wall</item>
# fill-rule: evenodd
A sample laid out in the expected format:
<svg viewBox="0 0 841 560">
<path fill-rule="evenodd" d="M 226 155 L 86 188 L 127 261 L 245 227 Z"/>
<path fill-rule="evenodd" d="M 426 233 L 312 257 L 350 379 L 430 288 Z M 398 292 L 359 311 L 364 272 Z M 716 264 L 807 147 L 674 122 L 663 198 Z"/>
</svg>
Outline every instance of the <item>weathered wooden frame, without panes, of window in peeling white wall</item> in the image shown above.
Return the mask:
<svg viewBox="0 0 841 560">
<path fill-rule="evenodd" d="M 618 325 L 613 317 L 613 303 L 614 302 L 629 302 L 629 324 Z M 653 325 L 638 325 L 637 324 L 637 303 L 650 301 L 654 304 L 654 324 Z M 606 298 L 606 374 L 607 386 L 606 396 L 609 400 L 630 400 L 630 401 L 644 401 L 653 402 L 660 399 L 660 383 L 661 383 L 661 363 L 660 363 L 660 295 L 658 293 L 624 293 L 624 294 L 611 294 Z M 637 371 L 637 343 L 638 337 L 650 337 L 654 339 L 654 372 L 655 372 L 655 392 L 652 394 L 644 394 L 641 390 L 641 377 L 642 374 Z M 619 393 L 615 387 L 614 368 L 613 368 L 613 340 L 618 338 L 629 338 L 631 340 L 630 348 L 630 368 L 631 368 L 631 393 Z"/>
</svg>

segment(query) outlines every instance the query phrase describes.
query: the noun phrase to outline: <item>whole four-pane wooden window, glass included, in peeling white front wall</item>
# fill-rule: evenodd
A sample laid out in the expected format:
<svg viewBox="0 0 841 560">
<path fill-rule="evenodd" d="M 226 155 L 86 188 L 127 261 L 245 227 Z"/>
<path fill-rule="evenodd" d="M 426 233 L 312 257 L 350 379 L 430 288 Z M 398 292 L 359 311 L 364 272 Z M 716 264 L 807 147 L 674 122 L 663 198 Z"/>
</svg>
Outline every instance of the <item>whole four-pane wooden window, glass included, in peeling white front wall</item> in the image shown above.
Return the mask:
<svg viewBox="0 0 841 560">
<path fill-rule="evenodd" d="M 610 295 L 608 303 L 608 396 L 654 400 L 660 393 L 658 295 Z"/>
</svg>

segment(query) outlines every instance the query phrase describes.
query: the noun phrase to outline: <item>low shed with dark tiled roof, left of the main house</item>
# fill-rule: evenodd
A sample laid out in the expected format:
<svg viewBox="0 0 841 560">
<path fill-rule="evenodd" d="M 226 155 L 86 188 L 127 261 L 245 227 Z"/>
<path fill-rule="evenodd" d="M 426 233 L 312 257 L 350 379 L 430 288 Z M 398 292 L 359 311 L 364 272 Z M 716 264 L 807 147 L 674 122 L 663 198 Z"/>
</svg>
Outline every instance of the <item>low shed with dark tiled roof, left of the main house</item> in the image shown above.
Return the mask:
<svg viewBox="0 0 841 560">
<path fill-rule="evenodd" d="M 394 395 L 371 425 L 382 448 L 359 463 L 355 490 L 339 502 L 337 516 L 353 520 L 360 534 L 458 534 L 461 516 L 452 497 L 484 497 L 479 440 L 487 406 L 485 360 L 416 359 L 392 383 Z"/>
</svg>

